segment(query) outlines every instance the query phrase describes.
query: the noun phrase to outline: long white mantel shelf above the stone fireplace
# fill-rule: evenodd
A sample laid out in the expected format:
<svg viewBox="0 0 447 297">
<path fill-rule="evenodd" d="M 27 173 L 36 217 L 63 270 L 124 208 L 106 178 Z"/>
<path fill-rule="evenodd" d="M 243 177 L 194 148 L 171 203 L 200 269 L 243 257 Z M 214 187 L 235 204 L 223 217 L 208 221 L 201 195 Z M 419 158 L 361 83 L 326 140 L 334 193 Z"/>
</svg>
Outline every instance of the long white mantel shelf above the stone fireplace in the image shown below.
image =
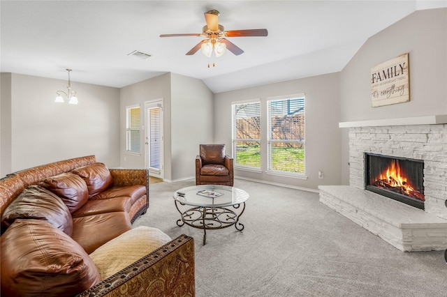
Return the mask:
<svg viewBox="0 0 447 297">
<path fill-rule="evenodd" d="M 447 123 L 447 114 L 412 116 L 409 118 L 379 119 L 338 123 L 339 128 L 376 127 L 383 125 L 437 125 Z"/>
</svg>

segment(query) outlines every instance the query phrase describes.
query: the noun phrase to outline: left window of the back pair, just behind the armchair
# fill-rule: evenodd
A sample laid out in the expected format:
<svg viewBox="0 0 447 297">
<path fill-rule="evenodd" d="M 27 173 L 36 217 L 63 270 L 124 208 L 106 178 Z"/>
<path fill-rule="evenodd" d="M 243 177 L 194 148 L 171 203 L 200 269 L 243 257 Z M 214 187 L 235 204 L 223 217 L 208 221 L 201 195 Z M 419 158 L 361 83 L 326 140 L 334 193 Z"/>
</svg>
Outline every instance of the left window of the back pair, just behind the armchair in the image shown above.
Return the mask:
<svg viewBox="0 0 447 297">
<path fill-rule="evenodd" d="M 233 104 L 235 166 L 261 169 L 261 103 Z"/>
</svg>

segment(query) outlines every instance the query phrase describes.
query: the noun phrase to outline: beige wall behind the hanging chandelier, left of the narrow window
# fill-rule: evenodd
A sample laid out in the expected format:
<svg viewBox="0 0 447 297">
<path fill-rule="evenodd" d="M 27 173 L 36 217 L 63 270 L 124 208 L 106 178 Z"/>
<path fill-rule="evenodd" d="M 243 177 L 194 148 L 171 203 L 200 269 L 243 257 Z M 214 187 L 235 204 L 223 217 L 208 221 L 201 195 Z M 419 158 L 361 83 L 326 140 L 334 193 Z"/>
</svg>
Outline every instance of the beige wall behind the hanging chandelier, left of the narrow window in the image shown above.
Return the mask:
<svg viewBox="0 0 447 297">
<path fill-rule="evenodd" d="M 8 88 L 8 82 L 1 82 L 2 89 Z M 119 89 L 72 82 L 80 104 L 55 103 L 56 91 L 66 91 L 66 85 L 59 79 L 11 75 L 10 111 L 3 109 L 1 99 L 1 118 L 10 116 L 11 135 L 10 144 L 3 142 L 2 125 L 3 175 L 82 155 L 96 155 L 108 167 L 119 166 Z M 6 162 L 3 170 L 8 150 L 10 169 Z"/>
</svg>

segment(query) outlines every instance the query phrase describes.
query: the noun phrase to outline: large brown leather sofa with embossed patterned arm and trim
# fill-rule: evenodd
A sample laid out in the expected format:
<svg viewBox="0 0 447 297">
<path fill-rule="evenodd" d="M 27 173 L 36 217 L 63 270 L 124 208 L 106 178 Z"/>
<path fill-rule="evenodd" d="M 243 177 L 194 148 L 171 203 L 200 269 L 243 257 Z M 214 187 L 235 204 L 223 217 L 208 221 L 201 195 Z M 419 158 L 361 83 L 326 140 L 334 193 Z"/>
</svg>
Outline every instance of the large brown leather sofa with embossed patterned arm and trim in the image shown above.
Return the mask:
<svg viewBox="0 0 447 297">
<path fill-rule="evenodd" d="M 135 231 L 148 207 L 147 170 L 94 155 L 1 178 L 1 296 L 194 296 L 193 238 L 158 229 L 164 244 L 101 280 L 92 254 Z"/>
</svg>

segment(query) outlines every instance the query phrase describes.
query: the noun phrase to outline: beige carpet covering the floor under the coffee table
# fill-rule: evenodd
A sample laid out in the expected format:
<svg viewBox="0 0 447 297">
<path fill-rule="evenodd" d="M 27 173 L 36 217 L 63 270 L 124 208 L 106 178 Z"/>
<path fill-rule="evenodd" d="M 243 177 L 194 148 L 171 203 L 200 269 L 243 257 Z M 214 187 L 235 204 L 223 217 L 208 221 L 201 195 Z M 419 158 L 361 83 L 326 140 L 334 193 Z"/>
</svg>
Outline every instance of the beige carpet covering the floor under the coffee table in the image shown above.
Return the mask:
<svg viewBox="0 0 447 297">
<path fill-rule="evenodd" d="M 401 252 L 335 213 L 318 194 L 235 179 L 250 199 L 245 226 L 177 227 L 173 192 L 194 181 L 149 186 L 134 227 L 194 237 L 196 293 L 205 296 L 447 296 L 444 252 Z"/>
</svg>

